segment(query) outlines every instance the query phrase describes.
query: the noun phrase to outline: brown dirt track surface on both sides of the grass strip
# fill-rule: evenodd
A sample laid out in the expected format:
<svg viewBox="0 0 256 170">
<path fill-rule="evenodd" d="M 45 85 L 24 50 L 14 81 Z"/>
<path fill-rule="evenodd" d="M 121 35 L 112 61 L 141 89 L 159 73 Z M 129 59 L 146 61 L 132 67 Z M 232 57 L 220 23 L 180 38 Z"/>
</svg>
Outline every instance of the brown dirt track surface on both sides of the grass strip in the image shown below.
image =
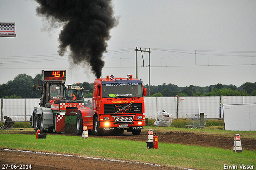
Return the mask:
<svg viewBox="0 0 256 170">
<path fill-rule="evenodd" d="M 156 132 L 159 142 L 174 143 L 174 144 L 185 144 L 195 146 L 206 146 L 223 148 L 227 150 L 233 150 L 234 138 L 220 136 L 220 135 L 206 135 L 194 132 Z M 36 134 L 36 132 L 18 132 L 22 134 Z M 49 134 L 56 135 L 56 134 Z M 58 135 L 74 135 L 74 134 L 58 134 Z M 93 138 L 116 138 L 123 140 L 134 140 L 134 141 L 146 141 L 148 133 L 143 132 L 139 136 L 133 136 L 131 132 L 125 132 L 121 136 L 94 136 Z M 255 138 L 242 138 L 242 149 L 243 150 L 256 150 L 256 139 Z M 40 163 L 37 163 L 40 160 Z M 84 157 L 71 157 L 71 156 L 56 156 L 49 154 L 36 154 L 18 151 L 0 150 L 0 163 L 2 164 L 31 164 L 32 169 L 47 169 L 47 170 L 120 170 L 120 169 L 140 169 L 140 170 L 180 170 L 180 168 L 171 168 L 164 166 L 155 166 L 142 163 L 131 163 L 131 162 L 113 162 L 110 160 L 94 160 Z M 1 165 L 2 165 L 1 164 Z M 3 168 L 3 166 L 2 166 Z M 8 168 L 11 169 L 11 168 Z"/>
</svg>

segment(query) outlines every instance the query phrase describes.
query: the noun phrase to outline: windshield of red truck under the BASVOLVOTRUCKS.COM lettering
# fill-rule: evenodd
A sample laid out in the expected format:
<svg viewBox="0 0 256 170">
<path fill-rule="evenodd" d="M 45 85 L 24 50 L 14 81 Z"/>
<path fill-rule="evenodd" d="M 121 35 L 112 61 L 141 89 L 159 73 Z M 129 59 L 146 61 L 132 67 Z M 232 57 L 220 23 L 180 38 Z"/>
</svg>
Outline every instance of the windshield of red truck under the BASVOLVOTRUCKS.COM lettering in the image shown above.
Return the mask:
<svg viewBox="0 0 256 170">
<path fill-rule="evenodd" d="M 142 97 L 142 83 L 102 84 L 103 98 Z"/>
</svg>

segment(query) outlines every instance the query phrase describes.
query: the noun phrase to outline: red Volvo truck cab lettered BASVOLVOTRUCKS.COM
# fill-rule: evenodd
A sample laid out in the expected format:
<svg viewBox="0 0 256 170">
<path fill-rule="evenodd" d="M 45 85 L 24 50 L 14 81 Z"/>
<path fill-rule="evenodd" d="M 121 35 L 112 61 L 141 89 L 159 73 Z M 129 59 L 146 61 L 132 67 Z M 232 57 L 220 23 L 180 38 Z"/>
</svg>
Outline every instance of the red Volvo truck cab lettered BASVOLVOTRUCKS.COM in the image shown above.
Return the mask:
<svg viewBox="0 0 256 170">
<path fill-rule="evenodd" d="M 132 78 L 114 78 L 106 76 L 94 81 L 93 110 L 94 132 L 116 131 L 122 134 L 124 130 L 134 135 L 140 134 L 145 125 L 144 96 L 145 84 Z"/>
</svg>

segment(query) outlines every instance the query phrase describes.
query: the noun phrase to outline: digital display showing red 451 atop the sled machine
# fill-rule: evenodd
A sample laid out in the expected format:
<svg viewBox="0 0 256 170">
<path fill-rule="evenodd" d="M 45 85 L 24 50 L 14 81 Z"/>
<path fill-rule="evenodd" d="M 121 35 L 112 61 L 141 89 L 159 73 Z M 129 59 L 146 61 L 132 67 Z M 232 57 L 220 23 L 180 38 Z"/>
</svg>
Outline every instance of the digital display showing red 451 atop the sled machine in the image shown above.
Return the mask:
<svg viewBox="0 0 256 170">
<path fill-rule="evenodd" d="M 66 70 L 42 70 L 42 81 L 66 81 Z"/>
</svg>

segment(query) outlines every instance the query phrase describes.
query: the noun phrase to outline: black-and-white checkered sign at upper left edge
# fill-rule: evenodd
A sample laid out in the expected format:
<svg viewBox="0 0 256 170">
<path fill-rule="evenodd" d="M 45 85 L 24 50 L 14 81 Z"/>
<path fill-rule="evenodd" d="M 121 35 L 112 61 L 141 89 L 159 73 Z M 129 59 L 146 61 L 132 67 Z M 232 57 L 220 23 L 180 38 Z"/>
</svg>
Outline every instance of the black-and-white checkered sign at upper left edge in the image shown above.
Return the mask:
<svg viewBox="0 0 256 170">
<path fill-rule="evenodd" d="M 0 22 L 0 36 L 16 37 L 15 23 Z"/>
</svg>

